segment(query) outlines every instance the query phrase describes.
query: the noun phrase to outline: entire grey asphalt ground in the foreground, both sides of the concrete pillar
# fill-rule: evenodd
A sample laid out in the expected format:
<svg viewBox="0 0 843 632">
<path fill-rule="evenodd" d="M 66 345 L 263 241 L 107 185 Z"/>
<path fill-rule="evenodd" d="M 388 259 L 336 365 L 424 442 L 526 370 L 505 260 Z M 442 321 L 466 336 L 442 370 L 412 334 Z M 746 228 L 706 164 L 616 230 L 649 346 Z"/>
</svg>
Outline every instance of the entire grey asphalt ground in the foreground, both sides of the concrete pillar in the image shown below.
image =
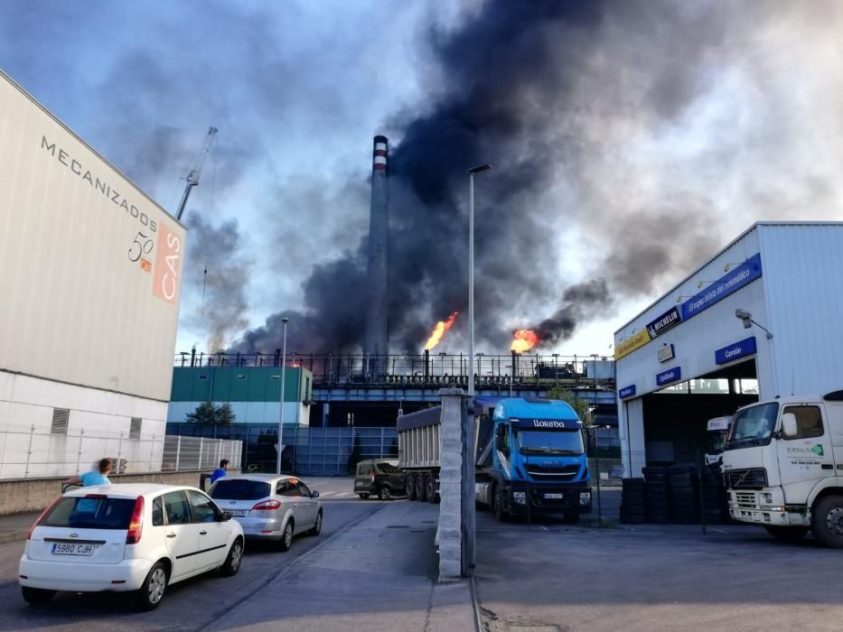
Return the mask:
<svg viewBox="0 0 843 632">
<path fill-rule="evenodd" d="M 843 551 L 763 530 L 614 524 L 553 516 L 499 523 L 478 513 L 473 582 L 436 583 L 438 507 L 360 500 L 351 479 L 311 479 L 318 537 L 288 553 L 251 545 L 238 575 L 173 586 L 149 613 L 116 595 L 63 593 L 26 606 L 16 582 L 22 542 L 0 545 L 0 630 L 831 630 L 843 620 Z M 616 516 L 614 497 L 604 514 Z"/>
</svg>

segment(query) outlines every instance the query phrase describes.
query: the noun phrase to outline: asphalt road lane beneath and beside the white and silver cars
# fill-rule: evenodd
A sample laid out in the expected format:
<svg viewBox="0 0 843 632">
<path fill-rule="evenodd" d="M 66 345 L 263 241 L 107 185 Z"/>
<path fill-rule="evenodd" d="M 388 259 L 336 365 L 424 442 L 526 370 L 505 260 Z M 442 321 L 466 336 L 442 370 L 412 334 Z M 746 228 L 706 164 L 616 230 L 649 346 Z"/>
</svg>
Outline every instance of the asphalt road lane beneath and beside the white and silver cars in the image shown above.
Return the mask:
<svg viewBox="0 0 843 632">
<path fill-rule="evenodd" d="M 378 511 L 384 503 L 361 501 L 351 492 L 351 479 L 308 479 L 318 489 L 324 507 L 322 534 L 295 539 L 287 553 L 271 546 L 247 544 L 237 575 L 220 577 L 216 572 L 173 585 L 162 605 L 148 613 L 132 611 L 120 593 L 60 593 L 43 607 L 27 605 L 17 583 L 17 563 L 23 542 L 0 544 L 0 630 L 198 630 L 210 627 L 232 609 L 250 599 L 255 609 L 265 598 L 261 590 L 304 553 L 342 535 Z"/>
</svg>

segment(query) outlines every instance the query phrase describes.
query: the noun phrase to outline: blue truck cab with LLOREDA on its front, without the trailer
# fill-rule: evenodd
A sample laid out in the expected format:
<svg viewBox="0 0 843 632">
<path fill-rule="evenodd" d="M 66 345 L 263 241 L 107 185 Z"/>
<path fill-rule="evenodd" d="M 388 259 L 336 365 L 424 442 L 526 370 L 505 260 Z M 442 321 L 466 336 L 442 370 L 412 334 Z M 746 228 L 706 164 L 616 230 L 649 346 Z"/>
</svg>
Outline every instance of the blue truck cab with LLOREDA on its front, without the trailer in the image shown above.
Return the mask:
<svg viewBox="0 0 843 632">
<path fill-rule="evenodd" d="M 583 423 L 565 402 L 510 397 L 477 425 L 477 499 L 499 520 L 591 511 Z"/>
</svg>

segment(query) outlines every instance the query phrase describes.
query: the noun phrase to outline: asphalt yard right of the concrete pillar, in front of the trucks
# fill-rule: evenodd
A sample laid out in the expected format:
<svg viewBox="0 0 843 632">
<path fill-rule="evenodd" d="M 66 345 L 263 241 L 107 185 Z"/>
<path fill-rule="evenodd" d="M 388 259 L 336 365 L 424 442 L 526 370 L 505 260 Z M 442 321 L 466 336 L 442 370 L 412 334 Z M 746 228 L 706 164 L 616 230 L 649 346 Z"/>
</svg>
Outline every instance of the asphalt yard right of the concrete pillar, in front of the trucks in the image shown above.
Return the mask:
<svg viewBox="0 0 843 632">
<path fill-rule="evenodd" d="M 843 551 L 719 525 L 528 527 L 478 514 L 486 629 L 838 630 Z"/>
</svg>

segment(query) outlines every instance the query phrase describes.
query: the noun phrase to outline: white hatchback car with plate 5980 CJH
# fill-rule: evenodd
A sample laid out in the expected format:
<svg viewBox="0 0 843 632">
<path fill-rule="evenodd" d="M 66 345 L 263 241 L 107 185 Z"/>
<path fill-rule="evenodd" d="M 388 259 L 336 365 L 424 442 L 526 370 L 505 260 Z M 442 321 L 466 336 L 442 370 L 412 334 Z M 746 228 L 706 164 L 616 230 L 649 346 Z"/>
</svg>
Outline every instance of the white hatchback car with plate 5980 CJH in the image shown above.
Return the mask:
<svg viewBox="0 0 843 632">
<path fill-rule="evenodd" d="M 58 497 L 35 521 L 19 565 L 23 599 L 57 590 L 136 592 L 154 609 L 168 584 L 219 568 L 238 572 L 243 529 L 199 489 L 99 485 Z"/>
</svg>

